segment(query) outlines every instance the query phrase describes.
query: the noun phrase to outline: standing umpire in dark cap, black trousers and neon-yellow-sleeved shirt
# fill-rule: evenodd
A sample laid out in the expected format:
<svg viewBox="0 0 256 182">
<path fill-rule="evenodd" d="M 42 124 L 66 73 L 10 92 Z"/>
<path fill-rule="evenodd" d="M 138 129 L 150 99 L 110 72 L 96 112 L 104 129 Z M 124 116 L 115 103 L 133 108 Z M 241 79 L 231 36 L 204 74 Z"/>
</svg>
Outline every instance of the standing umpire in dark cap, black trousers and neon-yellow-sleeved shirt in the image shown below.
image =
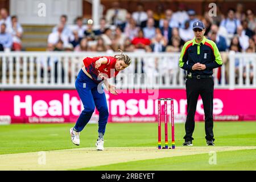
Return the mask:
<svg viewBox="0 0 256 182">
<path fill-rule="evenodd" d="M 187 71 L 187 120 L 183 146 L 193 146 L 195 112 L 199 94 L 205 113 L 205 139 L 208 146 L 214 146 L 213 138 L 213 68 L 221 67 L 222 59 L 216 44 L 204 36 L 203 22 L 193 23 L 195 38 L 186 42 L 180 54 L 179 66 Z"/>
</svg>

